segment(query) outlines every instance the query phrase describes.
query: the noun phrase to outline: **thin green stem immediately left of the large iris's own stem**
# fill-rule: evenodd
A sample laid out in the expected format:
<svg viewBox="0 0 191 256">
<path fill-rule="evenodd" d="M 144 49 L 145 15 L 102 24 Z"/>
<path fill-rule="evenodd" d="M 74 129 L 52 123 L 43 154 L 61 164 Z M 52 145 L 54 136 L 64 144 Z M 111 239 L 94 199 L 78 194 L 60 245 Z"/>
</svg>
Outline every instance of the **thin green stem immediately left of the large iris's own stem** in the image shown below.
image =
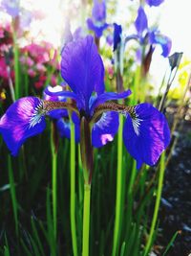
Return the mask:
<svg viewBox="0 0 191 256">
<path fill-rule="evenodd" d="M 74 256 L 77 256 L 76 221 L 75 221 L 75 141 L 74 123 L 71 120 L 71 232 Z"/>
</svg>

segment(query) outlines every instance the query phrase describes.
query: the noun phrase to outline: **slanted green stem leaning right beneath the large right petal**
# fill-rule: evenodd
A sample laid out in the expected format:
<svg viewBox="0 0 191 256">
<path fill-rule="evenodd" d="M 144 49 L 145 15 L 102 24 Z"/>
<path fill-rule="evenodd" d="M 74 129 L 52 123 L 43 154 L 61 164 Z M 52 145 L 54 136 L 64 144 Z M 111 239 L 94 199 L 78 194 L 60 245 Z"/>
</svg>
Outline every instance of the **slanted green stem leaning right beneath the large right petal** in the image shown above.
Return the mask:
<svg viewBox="0 0 191 256">
<path fill-rule="evenodd" d="M 161 157 L 160 157 L 159 184 L 158 184 L 158 190 L 157 190 L 157 198 L 156 198 L 156 203 L 155 203 L 154 215 L 153 215 L 153 220 L 152 220 L 152 223 L 151 223 L 151 229 L 150 229 L 148 241 L 147 241 L 147 244 L 145 246 L 143 256 L 148 255 L 148 253 L 150 251 L 150 248 L 152 246 L 153 236 L 154 236 L 156 223 L 157 223 L 157 220 L 158 220 L 158 214 L 159 214 L 159 202 L 160 202 L 161 192 L 162 192 L 164 171 L 165 171 L 165 152 L 162 152 Z"/>
</svg>

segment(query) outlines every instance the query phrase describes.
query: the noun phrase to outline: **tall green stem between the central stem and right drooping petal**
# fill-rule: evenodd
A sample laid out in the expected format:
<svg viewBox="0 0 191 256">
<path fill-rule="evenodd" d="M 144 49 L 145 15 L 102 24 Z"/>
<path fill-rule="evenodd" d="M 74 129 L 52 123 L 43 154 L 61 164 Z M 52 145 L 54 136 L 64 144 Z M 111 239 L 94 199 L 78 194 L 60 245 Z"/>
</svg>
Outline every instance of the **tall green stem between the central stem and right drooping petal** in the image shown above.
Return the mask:
<svg viewBox="0 0 191 256">
<path fill-rule="evenodd" d="M 116 219 L 114 227 L 114 244 L 112 256 L 117 256 L 118 243 L 121 229 L 121 198 L 122 198 L 122 127 L 123 116 L 119 116 L 119 128 L 117 137 L 117 198 L 116 198 Z"/>
</svg>

